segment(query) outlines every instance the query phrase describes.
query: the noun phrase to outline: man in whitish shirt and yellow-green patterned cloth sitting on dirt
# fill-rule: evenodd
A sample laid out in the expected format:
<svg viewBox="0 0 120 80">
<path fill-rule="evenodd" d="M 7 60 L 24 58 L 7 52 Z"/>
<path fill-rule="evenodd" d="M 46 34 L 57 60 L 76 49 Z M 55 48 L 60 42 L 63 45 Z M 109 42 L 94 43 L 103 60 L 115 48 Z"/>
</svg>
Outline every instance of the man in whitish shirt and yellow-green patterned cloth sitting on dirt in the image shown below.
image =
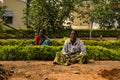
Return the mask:
<svg viewBox="0 0 120 80">
<path fill-rule="evenodd" d="M 71 31 L 70 39 L 66 40 L 62 52 L 57 52 L 53 64 L 70 65 L 87 63 L 87 53 L 83 42 L 77 38 L 77 33 Z"/>
</svg>

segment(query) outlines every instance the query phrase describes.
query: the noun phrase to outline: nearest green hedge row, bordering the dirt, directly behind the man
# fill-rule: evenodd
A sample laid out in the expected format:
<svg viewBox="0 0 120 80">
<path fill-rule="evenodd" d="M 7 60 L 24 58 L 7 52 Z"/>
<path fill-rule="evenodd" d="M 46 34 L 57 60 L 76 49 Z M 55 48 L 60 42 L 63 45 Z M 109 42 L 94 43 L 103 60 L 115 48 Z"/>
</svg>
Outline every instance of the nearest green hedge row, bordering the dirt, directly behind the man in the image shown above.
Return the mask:
<svg viewBox="0 0 120 80">
<path fill-rule="evenodd" d="M 53 60 L 62 46 L 0 46 L 0 60 Z M 120 60 L 120 50 L 86 46 L 88 57 L 95 60 Z"/>
</svg>

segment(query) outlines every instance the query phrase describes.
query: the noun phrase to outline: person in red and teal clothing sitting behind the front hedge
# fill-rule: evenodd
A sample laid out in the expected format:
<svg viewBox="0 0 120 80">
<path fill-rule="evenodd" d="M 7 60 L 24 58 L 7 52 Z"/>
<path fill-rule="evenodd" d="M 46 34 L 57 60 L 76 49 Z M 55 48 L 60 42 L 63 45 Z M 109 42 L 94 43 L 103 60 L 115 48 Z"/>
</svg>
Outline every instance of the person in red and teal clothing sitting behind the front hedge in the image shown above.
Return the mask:
<svg viewBox="0 0 120 80">
<path fill-rule="evenodd" d="M 45 33 L 45 29 L 40 29 L 39 35 L 35 37 L 35 45 L 51 45 L 51 41 Z"/>
</svg>

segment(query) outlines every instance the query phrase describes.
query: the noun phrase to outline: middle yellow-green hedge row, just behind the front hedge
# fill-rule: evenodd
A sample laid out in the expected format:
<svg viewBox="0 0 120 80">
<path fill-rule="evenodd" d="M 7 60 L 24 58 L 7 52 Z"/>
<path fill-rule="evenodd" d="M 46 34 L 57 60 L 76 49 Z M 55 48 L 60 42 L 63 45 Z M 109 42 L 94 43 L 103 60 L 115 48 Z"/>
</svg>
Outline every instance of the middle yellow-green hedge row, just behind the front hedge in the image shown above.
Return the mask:
<svg viewBox="0 0 120 80">
<path fill-rule="evenodd" d="M 52 46 L 63 46 L 66 39 L 52 39 Z M 120 49 L 120 40 L 109 40 L 109 41 L 95 41 L 95 40 L 83 40 L 85 45 L 90 46 L 102 46 L 109 49 Z M 17 39 L 8 39 L 0 40 L 0 46 L 29 46 L 34 45 L 34 40 L 17 40 Z"/>
</svg>

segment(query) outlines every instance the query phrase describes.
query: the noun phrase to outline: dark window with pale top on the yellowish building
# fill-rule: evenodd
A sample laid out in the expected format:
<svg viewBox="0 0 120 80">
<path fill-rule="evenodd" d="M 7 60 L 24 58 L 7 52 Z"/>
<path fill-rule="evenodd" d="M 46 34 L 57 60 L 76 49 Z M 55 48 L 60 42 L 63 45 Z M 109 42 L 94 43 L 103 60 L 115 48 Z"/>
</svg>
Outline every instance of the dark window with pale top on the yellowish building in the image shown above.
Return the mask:
<svg viewBox="0 0 120 80">
<path fill-rule="evenodd" d="M 12 11 L 6 11 L 3 14 L 3 21 L 5 21 L 6 24 L 12 24 L 13 23 L 13 12 Z"/>
</svg>

